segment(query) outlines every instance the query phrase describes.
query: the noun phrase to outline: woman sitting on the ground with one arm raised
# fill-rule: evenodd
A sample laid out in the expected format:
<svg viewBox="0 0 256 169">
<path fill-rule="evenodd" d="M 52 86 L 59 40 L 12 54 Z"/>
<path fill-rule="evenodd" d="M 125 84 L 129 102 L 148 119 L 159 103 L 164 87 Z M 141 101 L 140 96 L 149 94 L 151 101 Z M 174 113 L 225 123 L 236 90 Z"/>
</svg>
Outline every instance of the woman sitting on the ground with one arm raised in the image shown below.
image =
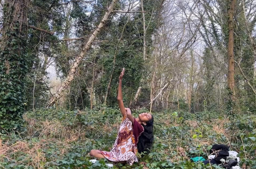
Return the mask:
<svg viewBox="0 0 256 169">
<path fill-rule="evenodd" d="M 123 120 L 120 125 L 119 133 L 116 141 L 110 152 L 91 150 L 90 156 L 97 159 L 105 158 L 111 162 L 121 162 L 133 165 L 138 162 L 136 153 L 149 152 L 153 144 L 153 122 L 154 118 L 149 113 L 139 114 L 139 117 L 134 118 L 131 115 L 131 110 L 123 105 L 122 96 L 122 79 L 125 73 L 123 68 L 119 76 L 119 87 L 117 100 L 119 108 L 123 115 Z"/>
</svg>

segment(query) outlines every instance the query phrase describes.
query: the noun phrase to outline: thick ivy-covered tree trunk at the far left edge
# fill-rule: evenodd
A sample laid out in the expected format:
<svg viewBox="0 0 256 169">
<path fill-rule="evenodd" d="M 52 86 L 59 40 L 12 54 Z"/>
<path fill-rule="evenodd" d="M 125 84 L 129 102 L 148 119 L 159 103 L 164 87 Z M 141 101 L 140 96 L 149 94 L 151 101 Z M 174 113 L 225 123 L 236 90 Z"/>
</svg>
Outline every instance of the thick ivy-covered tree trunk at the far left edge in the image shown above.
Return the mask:
<svg viewBox="0 0 256 169">
<path fill-rule="evenodd" d="M 19 127 L 25 111 L 24 88 L 28 70 L 27 4 L 28 0 L 5 0 L 3 7 L 0 37 L 0 130 L 2 132 Z"/>
</svg>

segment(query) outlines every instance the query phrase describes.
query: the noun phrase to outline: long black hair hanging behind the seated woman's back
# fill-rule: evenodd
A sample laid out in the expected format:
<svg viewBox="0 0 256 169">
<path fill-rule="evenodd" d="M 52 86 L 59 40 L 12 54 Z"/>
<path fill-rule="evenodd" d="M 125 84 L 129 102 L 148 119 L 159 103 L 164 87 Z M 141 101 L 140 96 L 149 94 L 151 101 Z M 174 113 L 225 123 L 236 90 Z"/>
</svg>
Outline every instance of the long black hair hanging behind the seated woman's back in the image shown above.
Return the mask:
<svg viewBox="0 0 256 169">
<path fill-rule="evenodd" d="M 152 116 L 152 114 L 151 114 Z M 154 124 L 154 118 L 152 118 L 146 123 L 146 125 L 143 125 L 144 132 L 139 137 L 139 141 L 137 144 L 138 152 L 143 153 L 146 151 L 146 154 L 149 153 L 149 149 L 152 147 L 153 141 L 154 141 L 154 133 L 153 133 L 153 124 Z"/>
</svg>

